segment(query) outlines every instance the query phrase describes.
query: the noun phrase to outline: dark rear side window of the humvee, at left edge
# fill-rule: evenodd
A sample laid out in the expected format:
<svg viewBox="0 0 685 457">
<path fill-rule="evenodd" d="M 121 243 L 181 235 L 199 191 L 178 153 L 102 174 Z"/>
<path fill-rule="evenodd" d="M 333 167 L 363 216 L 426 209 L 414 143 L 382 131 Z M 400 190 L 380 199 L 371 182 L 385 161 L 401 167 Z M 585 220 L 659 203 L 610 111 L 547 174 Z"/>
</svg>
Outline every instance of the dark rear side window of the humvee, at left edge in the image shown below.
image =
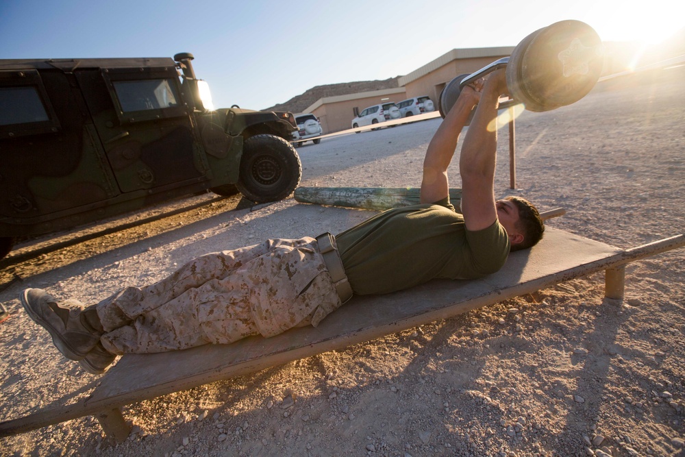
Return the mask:
<svg viewBox="0 0 685 457">
<path fill-rule="evenodd" d="M 0 88 L 0 125 L 45 122 L 50 118 L 33 86 Z"/>
</svg>

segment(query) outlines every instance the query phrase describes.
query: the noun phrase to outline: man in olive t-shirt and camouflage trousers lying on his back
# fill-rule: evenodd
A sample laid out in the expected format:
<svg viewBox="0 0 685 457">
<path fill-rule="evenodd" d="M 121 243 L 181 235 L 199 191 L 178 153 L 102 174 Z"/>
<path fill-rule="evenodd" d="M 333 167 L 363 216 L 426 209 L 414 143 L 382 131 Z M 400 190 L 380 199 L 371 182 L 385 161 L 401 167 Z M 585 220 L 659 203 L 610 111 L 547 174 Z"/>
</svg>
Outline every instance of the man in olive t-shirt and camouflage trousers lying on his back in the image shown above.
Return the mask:
<svg viewBox="0 0 685 457">
<path fill-rule="evenodd" d="M 464 87 L 426 151 L 419 205 L 382 212 L 335 238 L 275 239 L 207 254 L 160 282 L 124 288 L 88 307 L 40 289 L 25 290 L 22 304 L 64 356 L 98 374 L 121 354 L 316 326 L 353 293 L 494 273 L 510 250 L 535 245 L 545 230 L 524 199 L 495 201 L 495 119 L 506 91 L 503 70 Z M 447 167 L 474 106 L 459 163 L 459 214 L 449 202 Z"/>
</svg>

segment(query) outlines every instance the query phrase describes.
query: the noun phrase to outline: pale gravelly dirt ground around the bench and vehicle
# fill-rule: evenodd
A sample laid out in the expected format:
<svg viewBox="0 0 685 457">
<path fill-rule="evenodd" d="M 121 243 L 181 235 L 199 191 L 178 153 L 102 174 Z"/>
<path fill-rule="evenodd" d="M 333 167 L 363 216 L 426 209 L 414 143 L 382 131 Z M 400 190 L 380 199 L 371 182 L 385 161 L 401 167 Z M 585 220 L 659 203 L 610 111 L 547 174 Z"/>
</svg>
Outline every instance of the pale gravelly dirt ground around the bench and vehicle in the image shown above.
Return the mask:
<svg viewBox="0 0 685 457">
<path fill-rule="evenodd" d="M 516 121 L 518 188 L 508 189 L 503 129 L 498 196 L 566 208 L 549 225 L 617 247 L 683 233 L 684 81 L 684 67 L 614 79 L 572 106 L 524 112 Z M 299 148 L 302 184 L 419 186 L 439 122 L 307 143 Z M 456 167 L 451 177 L 459 187 Z M 235 210 L 236 199 L 191 200 L 203 199 L 210 202 L 86 247 L 3 262 L 0 301 L 12 316 L 0 323 L 0 420 L 75 402 L 99 382 L 27 317 L 18 301 L 23 288 L 90 304 L 208 251 L 336 233 L 373 214 L 293 199 Z M 132 404 L 124 415 L 134 433 L 119 445 L 88 417 L 0 439 L 0 454 L 685 456 L 684 260 L 685 249 L 676 249 L 629 264 L 623 301 L 604 299 L 603 275 L 590 275 Z"/>
</svg>

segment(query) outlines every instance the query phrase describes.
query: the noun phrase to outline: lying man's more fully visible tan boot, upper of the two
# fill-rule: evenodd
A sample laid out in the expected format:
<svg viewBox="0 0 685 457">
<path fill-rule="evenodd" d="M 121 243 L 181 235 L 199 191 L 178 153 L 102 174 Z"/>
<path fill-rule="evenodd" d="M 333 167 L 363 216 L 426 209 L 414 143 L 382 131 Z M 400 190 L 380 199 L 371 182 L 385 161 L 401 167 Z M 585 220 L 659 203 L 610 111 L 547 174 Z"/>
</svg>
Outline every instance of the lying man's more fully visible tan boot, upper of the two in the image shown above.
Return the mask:
<svg viewBox="0 0 685 457">
<path fill-rule="evenodd" d="M 66 358 L 82 360 L 100 341 L 102 326 L 95 309 L 84 308 L 77 300 L 58 302 L 41 289 L 26 289 L 21 304 L 38 325 L 52 336 Z"/>
</svg>

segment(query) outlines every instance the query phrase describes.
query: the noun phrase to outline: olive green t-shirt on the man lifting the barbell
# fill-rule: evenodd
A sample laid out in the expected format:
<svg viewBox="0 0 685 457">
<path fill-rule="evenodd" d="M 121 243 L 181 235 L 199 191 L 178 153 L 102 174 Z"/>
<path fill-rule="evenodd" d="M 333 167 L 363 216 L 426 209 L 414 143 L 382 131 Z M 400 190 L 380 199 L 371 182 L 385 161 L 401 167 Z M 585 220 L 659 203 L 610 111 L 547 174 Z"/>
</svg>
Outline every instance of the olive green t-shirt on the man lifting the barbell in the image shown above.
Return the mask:
<svg viewBox="0 0 685 457">
<path fill-rule="evenodd" d="M 352 290 L 382 294 L 434 278 L 473 279 L 498 271 L 509 238 L 495 221 L 471 232 L 445 198 L 381 212 L 336 236 Z"/>
</svg>

